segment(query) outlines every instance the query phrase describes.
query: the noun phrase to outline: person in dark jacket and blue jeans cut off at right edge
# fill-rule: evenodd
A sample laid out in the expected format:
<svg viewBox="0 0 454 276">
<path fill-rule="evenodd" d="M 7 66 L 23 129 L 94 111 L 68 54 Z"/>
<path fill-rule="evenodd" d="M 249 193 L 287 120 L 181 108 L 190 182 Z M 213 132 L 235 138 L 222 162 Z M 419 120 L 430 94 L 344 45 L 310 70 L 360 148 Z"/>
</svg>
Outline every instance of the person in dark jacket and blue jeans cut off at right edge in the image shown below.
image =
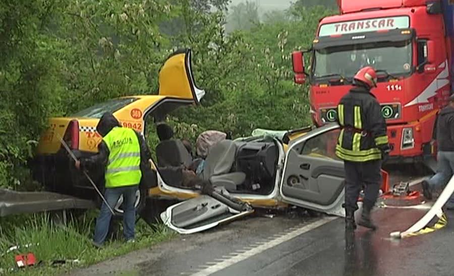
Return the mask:
<svg viewBox="0 0 454 276">
<path fill-rule="evenodd" d="M 444 187 L 454 173 L 454 95 L 449 97 L 449 104 L 438 114 L 436 129 L 437 173 L 422 182 L 424 197 L 429 200 L 433 190 Z M 454 210 L 454 196 L 449 198 L 446 209 Z"/>
</svg>

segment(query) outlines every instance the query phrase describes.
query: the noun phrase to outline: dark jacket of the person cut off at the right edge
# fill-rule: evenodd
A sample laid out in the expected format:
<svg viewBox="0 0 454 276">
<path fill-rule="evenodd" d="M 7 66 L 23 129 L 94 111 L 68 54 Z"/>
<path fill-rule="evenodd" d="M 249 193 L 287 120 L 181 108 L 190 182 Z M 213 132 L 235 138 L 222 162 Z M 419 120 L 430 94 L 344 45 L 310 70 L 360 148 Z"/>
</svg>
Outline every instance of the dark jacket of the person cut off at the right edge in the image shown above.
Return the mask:
<svg viewBox="0 0 454 276">
<path fill-rule="evenodd" d="M 438 114 L 437 147 L 442 152 L 454 152 L 454 107 L 448 105 Z"/>
</svg>

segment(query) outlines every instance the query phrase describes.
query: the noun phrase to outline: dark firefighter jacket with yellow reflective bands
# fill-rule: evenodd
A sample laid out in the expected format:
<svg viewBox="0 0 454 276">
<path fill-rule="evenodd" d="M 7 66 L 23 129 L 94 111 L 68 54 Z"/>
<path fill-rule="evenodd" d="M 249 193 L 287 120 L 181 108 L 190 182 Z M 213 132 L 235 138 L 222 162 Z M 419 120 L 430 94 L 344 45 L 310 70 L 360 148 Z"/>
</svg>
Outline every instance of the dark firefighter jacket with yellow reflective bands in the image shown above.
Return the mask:
<svg viewBox="0 0 454 276">
<path fill-rule="evenodd" d="M 336 156 L 353 162 L 382 158 L 387 149 L 386 122 L 381 107 L 369 90 L 357 86 L 337 105 L 337 119 L 341 132 L 336 145 Z"/>
</svg>

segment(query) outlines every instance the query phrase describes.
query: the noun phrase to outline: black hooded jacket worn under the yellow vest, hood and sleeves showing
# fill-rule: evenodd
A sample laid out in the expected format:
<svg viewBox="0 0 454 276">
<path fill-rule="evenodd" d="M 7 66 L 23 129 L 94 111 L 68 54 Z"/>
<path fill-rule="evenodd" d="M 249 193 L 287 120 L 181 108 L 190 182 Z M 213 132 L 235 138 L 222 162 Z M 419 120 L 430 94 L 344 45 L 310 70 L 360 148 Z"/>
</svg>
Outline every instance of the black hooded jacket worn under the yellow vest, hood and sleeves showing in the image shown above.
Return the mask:
<svg viewBox="0 0 454 276">
<path fill-rule="evenodd" d="M 98 133 L 104 137 L 105 135 L 107 135 L 107 133 L 110 132 L 110 130 L 112 130 L 113 127 L 116 126 L 121 126 L 117 118 L 115 118 L 115 116 L 113 116 L 113 114 L 111 113 L 104 113 L 99 120 L 98 125 L 96 126 L 96 131 L 98 131 Z M 156 186 L 156 174 L 150 169 L 150 164 L 148 163 L 148 160 L 151 159 L 151 154 L 142 135 L 140 135 L 140 133 L 137 131 L 134 132 L 136 133 L 140 145 L 140 167 L 142 171 L 142 180 L 140 186 L 151 188 Z M 103 140 L 101 140 L 98 145 L 98 153 L 88 158 L 82 158 L 80 160 L 81 167 L 84 169 L 105 170 L 109 154 L 110 153 L 107 145 Z"/>
</svg>

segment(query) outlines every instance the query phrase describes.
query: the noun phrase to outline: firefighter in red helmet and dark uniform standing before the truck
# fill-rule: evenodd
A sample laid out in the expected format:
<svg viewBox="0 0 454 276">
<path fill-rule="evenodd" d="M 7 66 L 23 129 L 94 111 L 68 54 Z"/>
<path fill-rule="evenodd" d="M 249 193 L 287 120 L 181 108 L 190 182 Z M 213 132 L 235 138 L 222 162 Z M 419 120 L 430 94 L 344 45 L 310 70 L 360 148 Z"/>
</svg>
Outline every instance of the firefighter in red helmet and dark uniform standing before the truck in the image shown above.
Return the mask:
<svg viewBox="0 0 454 276">
<path fill-rule="evenodd" d="M 377 74 L 364 67 L 353 78 L 354 87 L 337 105 L 341 132 L 336 145 L 336 156 L 344 160 L 346 229 L 356 229 L 354 213 L 358 210 L 358 196 L 365 185 L 365 197 L 359 225 L 375 230 L 370 212 L 377 200 L 381 183 L 381 164 L 389 152 L 386 122 L 380 104 L 370 92 L 377 87 Z"/>
</svg>

